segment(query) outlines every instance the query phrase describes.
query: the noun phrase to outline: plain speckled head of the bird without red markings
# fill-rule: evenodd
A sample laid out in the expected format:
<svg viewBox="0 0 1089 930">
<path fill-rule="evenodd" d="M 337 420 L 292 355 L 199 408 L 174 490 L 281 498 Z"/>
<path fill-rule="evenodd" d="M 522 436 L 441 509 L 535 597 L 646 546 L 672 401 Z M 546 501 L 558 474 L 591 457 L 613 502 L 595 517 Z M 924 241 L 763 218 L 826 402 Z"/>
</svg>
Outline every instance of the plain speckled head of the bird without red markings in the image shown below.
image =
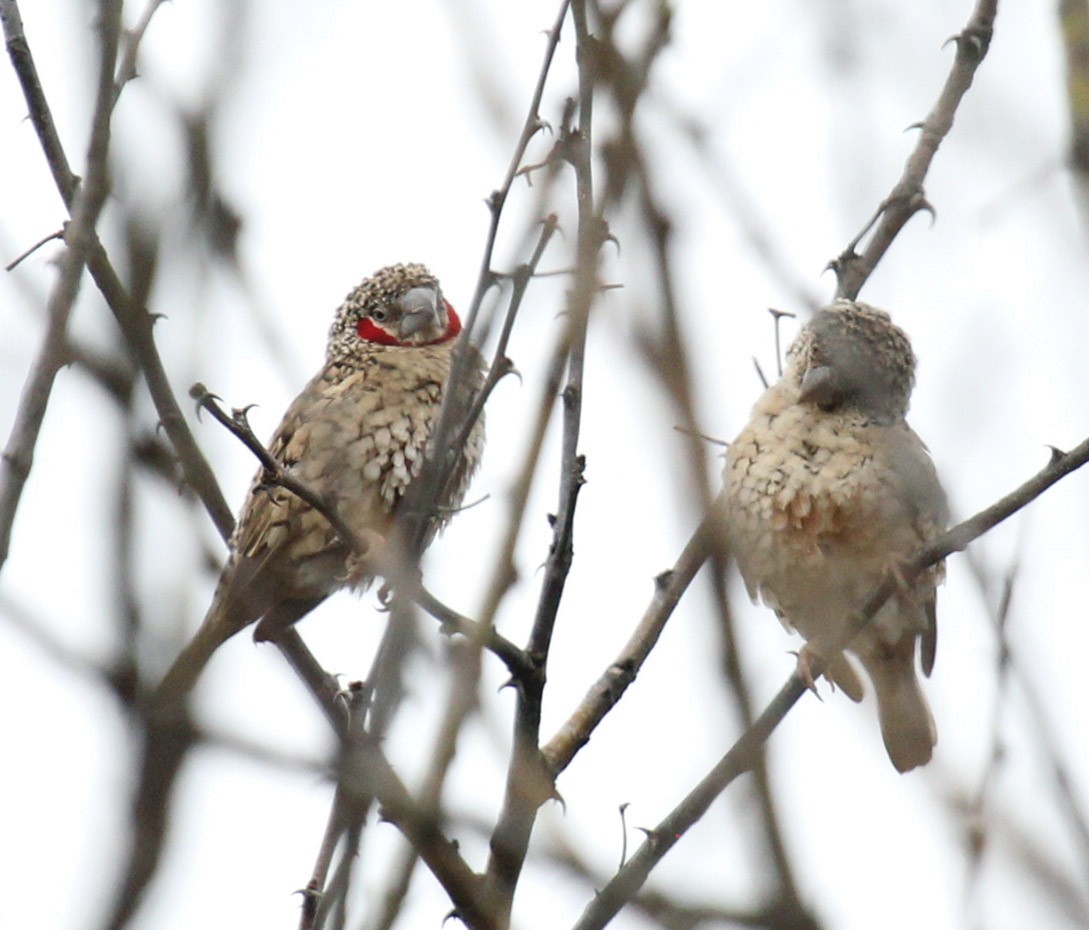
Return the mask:
<svg viewBox="0 0 1089 930">
<path fill-rule="evenodd" d="M 825 412 L 858 411 L 879 420 L 907 414 L 915 353 L 884 310 L 836 301 L 803 328 L 788 359 L 798 403 Z"/>
</svg>

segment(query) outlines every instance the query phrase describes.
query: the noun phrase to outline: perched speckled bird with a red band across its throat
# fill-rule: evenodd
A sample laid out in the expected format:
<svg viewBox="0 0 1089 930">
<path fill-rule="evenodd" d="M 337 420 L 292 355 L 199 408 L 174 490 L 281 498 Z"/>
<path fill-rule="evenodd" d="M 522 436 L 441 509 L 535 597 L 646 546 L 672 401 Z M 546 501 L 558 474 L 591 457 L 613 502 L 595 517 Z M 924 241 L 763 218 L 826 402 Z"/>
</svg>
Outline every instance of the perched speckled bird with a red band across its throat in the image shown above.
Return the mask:
<svg viewBox="0 0 1089 930">
<path fill-rule="evenodd" d="M 462 325 L 423 265 L 394 265 L 344 298 L 325 367 L 287 408 L 269 452 L 310 490 L 334 502 L 364 538 L 384 537 L 405 489 L 419 473 L 450 376 Z M 484 362 L 469 348 L 467 388 L 479 389 Z M 461 502 L 484 446 L 478 421 L 456 463 L 426 542 Z M 212 652 L 259 621 L 270 639 L 338 588 L 366 588 L 347 546 L 320 513 L 258 472 L 230 540 L 230 555 L 204 622 L 152 694 L 170 707 L 196 683 Z"/>
</svg>

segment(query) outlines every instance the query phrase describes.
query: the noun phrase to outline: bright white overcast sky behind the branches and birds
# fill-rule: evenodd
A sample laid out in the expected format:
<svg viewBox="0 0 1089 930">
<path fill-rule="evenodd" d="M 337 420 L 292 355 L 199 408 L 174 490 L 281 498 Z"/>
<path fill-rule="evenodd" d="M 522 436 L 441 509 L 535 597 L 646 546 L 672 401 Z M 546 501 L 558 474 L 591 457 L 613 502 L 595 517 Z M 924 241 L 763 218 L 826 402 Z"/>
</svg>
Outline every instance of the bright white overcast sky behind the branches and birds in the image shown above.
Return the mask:
<svg viewBox="0 0 1089 930">
<path fill-rule="evenodd" d="M 126 21 L 139 8 L 129 4 Z M 228 403 L 257 402 L 259 433 L 320 364 L 332 310 L 375 268 L 424 260 L 455 306 L 472 295 L 487 224 L 484 198 L 510 158 L 536 79 L 555 3 L 462 0 L 445 4 L 253 4 L 231 27 L 246 40 L 224 47 L 223 4 L 175 0 L 156 15 L 142 57 L 143 78 L 124 91 L 115 121 L 117 184 L 146 216 L 166 220 L 164 262 L 152 295 L 164 314 L 156 335 L 181 396 L 200 379 Z M 1047 445 L 1089 435 L 1089 266 L 1085 213 L 1062 169 L 1066 123 L 1054 4 L 1003 4 L 991 53 L 927 182 L 938 211 L 911 221 L 862 296 L 889 308 L 911 334 L 921 363 L 911 421 L 931 446 L 954 512 L 969 515 L 1041 467 Z M 451 10 L 479 16 L 472 45 Z M 941 42 L 970 12 L 968 2 L 766 4 L 678 2 L 671 47 L 639 112 L 659 193 L 676 228 L 678 289 L 699 415 L 708 433 L 731 437 L 759 390 L 751 356 L 774 367 L 764 308 L 800 310 L 791 282 L 750 247 L 733 205 L 715 186 L 666 113 L 680 108 L 709 132 L 720 171 L 736 179 L 763 231 L 796 279 L 828 296 L 821 269 L 888 193 L 952 61 Z M 81 3 L 38 0 L 23 15 L 32 48 L 78 172 L 90 94 L 89 13 Z M 637 24 L 632 32 L 638 34 Z M 559 120 L 572 93 L 573 41 L 565 35 L 542 114 Z M 253 335 L 240 289 L 193 259 L 185 242 L 184 187 L 173 107 L 195 109 L 233 56 L 216 122 L 219 181 L 244 217 L 241 250 L 253 298 L 286 345 L 289 370 Z M 476 61 L 470 59 L 476 58 Z M 493 94 L 481 99 L 474 69 Z M 13 75 L 0 76 L 0 257 L 7 262 L 62 221 Z M 538 140 L 530 160 L 548 139 Z M 510 267 L 531 194 L 518 185 L 498 252 Z M 1081 201 L 1081 207 L 1085 204 Z M 591 333 L 583 451 L 588 484 L 579 502 L 576 565 L 550 665 L 543 734 L 550 736 L 627 638 L 696 523 L 685 500 L 681 440 L 660 394 L 646 383 L 634 336 L 652 319 L 648 253 L 624 218 L 622 249 L 609 272 L 624 286 L 600 306 Z M 568 267 L 573 227 L 543 267 Z M 4 435 L 40 341 L 41 301 L 56 246 L 0 277 L 0 427 Z M 489 448 L 466 512 L 431 550 L 431 588 L 472 614 L 487 579 L 497 525 L 536 401 L 544 346 L 555 326 L 562 281 L 535 284 L 510 354 L 523 383 L 504 382 L 489 407 Z M 27 299 L 27 294 L 30 299 Z M 85 286 L 74 330 L 111 345 L 109 313 Z M 147 403 L 142 416 L 154 421 Z M 232 504 L 253 463 L 213 424 L 195 425 Z M 123 425 L 78 372 L 57 382 L 32 479 L 15 527 L 0 594 L 33 610 L 76 652 L 98 659 L 114 643 L 109 566 L 113 464 Z M 554 509 L 554 449 L 535 487 L 518 553 L 521 584 L 501 629 L 521 640 L 547 553 L 544 514 Z M 709 451 L 713 454 L 713 450 Z M 196 540 L 220 551 L 203 517 L 155 485 L 139 504 L 142 607 L 163 653 L 195 627 L 212 579 L 199 572 Z M 1089 474 L 1068 478 L 1030 511 L 975 548 L 994 572 L 1019 555 L 1008 635 L 1045 702 L 1079 797 L 1089 788 L 1084 657 L 1089 654 Z M 774 786 L 807 902 L 827 926 L 1015 928 L 1075 926 L 1049 904 L 1026 867 L 994 840 L 972 903 L 965 901 L 963 836 L 949 806 L 978 788 L 995 700 L 995 639 L 963 559 L 950 564 L 940 601 L 940 649 L 928 684 L 938 720 L 937 758 L 898 776 L 888 764 L 871 705 L 841 696 L 802 701 L 771 741 Z M 105 579 L 109 583 L 109 578 Z M 792 669 L 787 637 L 771 613 L 738 590 L 744 663 L 763 701 Z M 994 597 L 992 596 L 992 602 Z M 2 603 L 0 603 L 2 608 Z M 303 635 L 327 666 L 359 677 L 380 623 L 372 599 L 338 596 L 305 621 Z M 566 810 L 547 808 L 537 843 L 565 837 L 609 874 L 619 858 L 616 807 L 628 823 L 651 825 L 725 751 L 735 736 L 719 682 L 718 639 L 705 587 L 682 602 L 645 672 L 592 743 L 564 773 Z M 426 628 L 438 658 L 440 641 Z M 441 707 L 441 674 L 421 660 L 406 721 L 390 757 L 409 781 L 426 760 Z M 457 813 L 491 818 L 502 787 L 510 692 L 488 664 L 486 713 L 465 734 L 448 799 Z M 439 690 L 440 693 L 436 693 Z M 109 900 L 109 871 L 122 842 L 123 786 L 132 743 L 105 692 L 58 668 L 0 620 L 0 926 L 95 926 Z M 279 657 L 232 640 L 201 685 L 210 726 L 307 759 L 321 758 L 325 724 Z M 1000 715 L 1008 757 L 989 805 L 1086 878 L 1056 812 L 1039 759 L 1033 719 L 1015 687 Z M 274 771 L 222 751 L 191 760 L 160 880 L 134 926 L 290 928 L 328 811 L 319 778 Z M 652 883 L 701 902 L 752 904 L 762 888 L 746 842 L 749 794 L 733 786 L 656 871 Z M 382 851 L 394 830 L 374 831 L 366 881 L 377 890 Z M 486 848 L 457 831 L 470 865 Z M 633 832 L 631 843 L 638 842 Z M 1005 851 L 1005 852 L 1004 852 Z M 519 928 L 565 927 L 592 894 L 531 862 L 515 903 Z M 439 926 L 449 904 L 425 872 L 401 926 Z M 967 909 L 966 909 L 967 908 Z M 1084 911 L 1082 911 L 1084 913 Z M 1065 922 L 1064 922 L 1065 921 Z M 617 928 L 647 925 L 625 911 Z"/>
</svg>

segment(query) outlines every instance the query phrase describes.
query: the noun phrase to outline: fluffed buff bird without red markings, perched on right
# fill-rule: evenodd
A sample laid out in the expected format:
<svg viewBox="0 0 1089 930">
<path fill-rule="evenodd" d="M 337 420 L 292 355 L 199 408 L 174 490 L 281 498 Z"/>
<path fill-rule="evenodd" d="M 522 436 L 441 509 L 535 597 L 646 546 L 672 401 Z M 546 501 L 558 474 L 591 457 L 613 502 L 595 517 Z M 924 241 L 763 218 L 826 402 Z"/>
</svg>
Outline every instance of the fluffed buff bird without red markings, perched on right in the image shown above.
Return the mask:
<svg viewBox="0 0 1089 930">
<path fill-rule="evenodd" d="M 941 533 L 945 494 L 905 420 L 915 383 L 907 335 L 883 310 L 837 301 L 798 333 L 786 370 L 726 454 L 722 497 L 731 551 L 749 596 L 807 640 L 853 700 L 861 683 L 830 649 L 889 571 Z M 937 645 L 938 565 L 903 585 L 851 644 L 877 693 L 893 766 L 930 761 L 938 734 L 916 674 Z M 811 676 L 810 676 L 811 680 Z"/>
</svg>

